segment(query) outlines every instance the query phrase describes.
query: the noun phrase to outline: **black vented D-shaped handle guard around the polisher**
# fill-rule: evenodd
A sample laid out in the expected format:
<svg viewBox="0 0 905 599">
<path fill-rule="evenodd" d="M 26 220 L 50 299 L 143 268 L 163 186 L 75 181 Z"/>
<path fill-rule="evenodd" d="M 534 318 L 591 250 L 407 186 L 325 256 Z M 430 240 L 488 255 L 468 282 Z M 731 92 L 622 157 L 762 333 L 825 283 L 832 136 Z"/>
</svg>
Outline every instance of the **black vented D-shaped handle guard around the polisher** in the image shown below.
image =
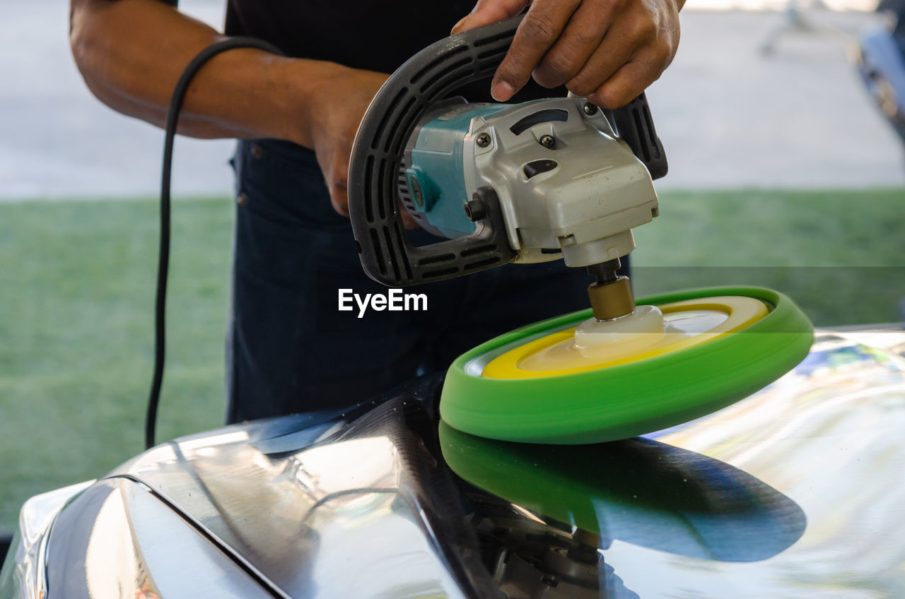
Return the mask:
<svg viewBox="0 0 905 599">
<path fill-rule="evenodd" d="M 420 247 L 405 236 L 397 189 L 405 144 L 421 117 L 453 90 L 492 77 L 522 16 L 424 48 L 393 73 L 368 107 L 350 159 L 348 209 L 361 264 L 372 279 L 405 287 L 483 271 L 516 256 L 491 187 L 474 194 L 486 208 L 475 233 Z M 643 94 L 614 110 L 611 121 L 654 178 L 666 173 Z"/>
</svg>

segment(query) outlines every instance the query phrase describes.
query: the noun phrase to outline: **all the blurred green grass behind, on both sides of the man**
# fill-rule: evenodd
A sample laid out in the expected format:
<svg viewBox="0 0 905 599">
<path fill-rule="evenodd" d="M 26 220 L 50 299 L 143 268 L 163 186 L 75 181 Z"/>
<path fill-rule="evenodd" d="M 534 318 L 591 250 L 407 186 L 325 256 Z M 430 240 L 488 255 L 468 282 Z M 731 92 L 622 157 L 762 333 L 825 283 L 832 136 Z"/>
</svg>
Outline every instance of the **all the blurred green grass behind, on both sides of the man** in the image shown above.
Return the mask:
<svg viewBox="0 0 905 599">
<path fill-rule="evenodd" d="M 232 202 L 180 200 L 157 437 L 223 422 Z M 902 319 L 905 190 L 670 192 L 636 231 L 639 295 L 758 283 L 818 325 Z M 141 451 L 157 203 L 0 204 L 0 529 L 35 493 Z"/>
</svg>

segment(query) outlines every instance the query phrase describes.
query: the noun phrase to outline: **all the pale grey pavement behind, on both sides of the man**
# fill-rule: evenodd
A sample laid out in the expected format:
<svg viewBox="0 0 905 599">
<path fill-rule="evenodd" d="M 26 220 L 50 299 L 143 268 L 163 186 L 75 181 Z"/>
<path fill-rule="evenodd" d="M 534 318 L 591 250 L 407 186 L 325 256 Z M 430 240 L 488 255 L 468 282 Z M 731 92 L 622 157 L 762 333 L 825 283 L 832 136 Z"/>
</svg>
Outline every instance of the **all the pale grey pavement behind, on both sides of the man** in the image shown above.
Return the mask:
<svg viewBox="0 0 905 599">
<path fill-rule="evenodd" d="M 222 22 L 223 0 L 183 0 Z M 712 2 L 711 2 L 712 5 Z M 726 6 L 722 6 L 725 8 Z M 68 4 L 31 0 L 0 22 L 0 200 L 156 195 L 163 135 L 95 100 L 69 52 Z M 776 11 L 683 12 L 681 48 L 649 90 L 670 158 L 666 188 L 905 186 L 905 152 L 853 71 L 876 14 L 811 9 L 781 36 Z M 233 142 L 176 142 L 174 195 L 232 193 Z"/>
</svg>

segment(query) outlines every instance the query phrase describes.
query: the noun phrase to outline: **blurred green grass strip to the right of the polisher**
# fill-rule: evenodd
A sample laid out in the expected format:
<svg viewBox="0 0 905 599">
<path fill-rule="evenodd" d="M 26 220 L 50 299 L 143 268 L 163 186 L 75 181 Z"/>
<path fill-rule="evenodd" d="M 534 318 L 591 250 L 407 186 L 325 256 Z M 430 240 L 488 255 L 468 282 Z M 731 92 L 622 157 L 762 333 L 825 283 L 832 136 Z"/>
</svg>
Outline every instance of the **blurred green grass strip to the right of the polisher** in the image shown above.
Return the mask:
<svg viewBox="0 0 905 599">
<path fill-rule="evenodd" d="M 635 240 L 638 296 L 762 285 L 817 326 L 905 320 L 902 189 L 672 192 Z"/>
</svg>

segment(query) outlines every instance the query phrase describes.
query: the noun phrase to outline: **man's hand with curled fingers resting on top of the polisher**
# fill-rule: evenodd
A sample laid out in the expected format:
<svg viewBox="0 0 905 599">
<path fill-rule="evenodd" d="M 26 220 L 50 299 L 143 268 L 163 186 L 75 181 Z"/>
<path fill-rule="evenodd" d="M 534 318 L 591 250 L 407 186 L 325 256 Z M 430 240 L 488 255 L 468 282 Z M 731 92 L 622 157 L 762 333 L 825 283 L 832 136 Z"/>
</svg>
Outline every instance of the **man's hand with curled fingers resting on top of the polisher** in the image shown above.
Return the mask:
<svg viewBox="0 0 905 599">
<path fill-rule="evenodd" d="M 616 109 L 656 81 L 679 45 L 684 0 L 478 0 L 452 33 L 496 23 L 530 4 L 491 94 L 509 100 L 528 82 L 565 85 Z"/>
</svg>

